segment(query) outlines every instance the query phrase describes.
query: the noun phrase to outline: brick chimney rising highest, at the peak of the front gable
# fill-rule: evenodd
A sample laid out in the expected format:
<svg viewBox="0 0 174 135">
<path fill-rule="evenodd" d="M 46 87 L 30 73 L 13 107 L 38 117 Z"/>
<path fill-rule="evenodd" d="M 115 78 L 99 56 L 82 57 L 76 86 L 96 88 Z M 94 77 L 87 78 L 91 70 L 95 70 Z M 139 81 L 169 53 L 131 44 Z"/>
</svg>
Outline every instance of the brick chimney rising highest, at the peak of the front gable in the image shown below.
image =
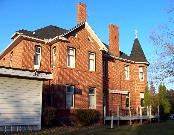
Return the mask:
<svg viewBox="0 0 174 135">
<path fill-rule="evenodd" d="M 77 5 L 77 23 L 81 23 L 86 20 L 86 4 L 81 2 Z"/>
</svg>

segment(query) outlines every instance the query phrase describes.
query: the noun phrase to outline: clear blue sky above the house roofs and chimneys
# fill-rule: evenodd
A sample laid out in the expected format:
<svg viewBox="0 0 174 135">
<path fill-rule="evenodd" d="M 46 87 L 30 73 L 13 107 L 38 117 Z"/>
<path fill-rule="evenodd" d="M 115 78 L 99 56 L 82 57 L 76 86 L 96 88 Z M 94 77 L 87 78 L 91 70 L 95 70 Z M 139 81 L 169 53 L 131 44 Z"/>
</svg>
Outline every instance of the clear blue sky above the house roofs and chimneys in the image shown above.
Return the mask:
<svg viewBox="0 0 174 135">
<path fill-rule="evenodd" d="M 76 25 L 79 0 L 0 0 L 0 52 L 11 42 L 19 29 L 35 30 L 47 25 L 69 29 Z M 87 5 L 87 21 L 97 35 L 108 43 L 108 25 L 117 24 L 120 49 L 130 54 L 134 30 L 146 57 L 154 53 L 149 35 L 158 25 L 167 22 L 165 9 L 169 0 L 82 0 Z"/>
</svg>

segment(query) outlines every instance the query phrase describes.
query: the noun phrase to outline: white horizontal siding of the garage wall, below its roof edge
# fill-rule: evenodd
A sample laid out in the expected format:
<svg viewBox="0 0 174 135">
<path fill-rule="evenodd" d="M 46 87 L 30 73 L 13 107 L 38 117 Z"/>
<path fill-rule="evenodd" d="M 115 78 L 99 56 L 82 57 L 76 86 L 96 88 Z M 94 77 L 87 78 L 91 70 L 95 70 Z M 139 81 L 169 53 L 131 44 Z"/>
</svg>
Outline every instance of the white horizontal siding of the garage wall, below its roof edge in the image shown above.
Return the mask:
<svg viewBox="0 0 174 135">
<path fill-rule="evenodd" d="M 42 81 L 0 77 L 0 126 L 41 127 Z"/>
</svg>

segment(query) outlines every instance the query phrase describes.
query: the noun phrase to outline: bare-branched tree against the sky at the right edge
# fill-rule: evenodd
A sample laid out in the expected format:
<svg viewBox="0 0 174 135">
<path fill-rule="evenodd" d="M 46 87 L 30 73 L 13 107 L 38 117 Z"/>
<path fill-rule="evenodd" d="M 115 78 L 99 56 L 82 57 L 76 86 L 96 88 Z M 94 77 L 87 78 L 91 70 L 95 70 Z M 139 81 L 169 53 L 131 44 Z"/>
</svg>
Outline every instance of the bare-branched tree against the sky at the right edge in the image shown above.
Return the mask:
<svg viewBox="0 0 174 135">
<path fill-rule="evenodd" d="M 156 57 L 151 62 L 153 79 L 160 82 L 174 82 L 174 1 L 166 10 L 169 20 L 166 24 L 159 25 L 150 35 L 156 49 Z"/>
</svg>

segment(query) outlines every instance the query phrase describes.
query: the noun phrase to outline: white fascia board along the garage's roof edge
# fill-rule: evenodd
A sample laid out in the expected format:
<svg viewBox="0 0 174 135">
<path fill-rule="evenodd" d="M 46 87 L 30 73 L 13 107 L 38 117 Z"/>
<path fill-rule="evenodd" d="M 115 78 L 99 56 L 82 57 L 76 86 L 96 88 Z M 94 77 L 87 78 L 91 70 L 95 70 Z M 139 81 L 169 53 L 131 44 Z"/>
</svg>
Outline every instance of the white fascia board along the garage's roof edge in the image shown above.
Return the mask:
<svg viewBox="0 0 174 135">
<path fill-rule="evenodd" d="M 53 79 L 52 74 L 48 73 L 40 73 L 34 71 L 23 71 L 19 69 L 12 68 L 0 68 L 0 75 L 9 75 L 9 76 L 19 76 L 19 77 L 27 77 L 27 78 L 35 78 L 35 79 Z"/>
</svg>

